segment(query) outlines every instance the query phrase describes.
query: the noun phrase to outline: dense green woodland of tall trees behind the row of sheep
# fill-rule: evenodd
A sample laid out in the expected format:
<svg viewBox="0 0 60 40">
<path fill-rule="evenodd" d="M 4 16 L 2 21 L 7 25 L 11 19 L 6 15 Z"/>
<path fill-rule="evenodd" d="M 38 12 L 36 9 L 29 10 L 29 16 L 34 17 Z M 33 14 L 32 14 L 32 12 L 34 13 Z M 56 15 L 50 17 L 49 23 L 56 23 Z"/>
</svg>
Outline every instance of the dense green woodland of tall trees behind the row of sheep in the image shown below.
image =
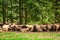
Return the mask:
<svg viewBox="0 0 60 40">
<path fill-rule="evenodd" d="M 60 0 L 0 0 L 0 22 L 60 23 Z"/>
</svg>

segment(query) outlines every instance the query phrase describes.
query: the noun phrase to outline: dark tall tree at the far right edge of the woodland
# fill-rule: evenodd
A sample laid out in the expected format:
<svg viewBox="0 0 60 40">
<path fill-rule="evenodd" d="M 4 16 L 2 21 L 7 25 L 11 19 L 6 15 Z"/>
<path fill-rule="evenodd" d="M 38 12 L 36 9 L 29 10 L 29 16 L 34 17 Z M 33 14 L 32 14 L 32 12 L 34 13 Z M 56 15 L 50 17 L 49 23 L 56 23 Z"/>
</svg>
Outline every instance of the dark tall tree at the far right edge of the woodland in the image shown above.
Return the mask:
<svg viewBox="0 0 60 40">
<path fill-rule="evenodd" d="M 58 8 L 59 6 L 59 0 L 55 0 L 54 3 L 55 3 L 55 23 L 60 23 L 60 13 L 58 10 L 60 10 Z"/>
</svg>

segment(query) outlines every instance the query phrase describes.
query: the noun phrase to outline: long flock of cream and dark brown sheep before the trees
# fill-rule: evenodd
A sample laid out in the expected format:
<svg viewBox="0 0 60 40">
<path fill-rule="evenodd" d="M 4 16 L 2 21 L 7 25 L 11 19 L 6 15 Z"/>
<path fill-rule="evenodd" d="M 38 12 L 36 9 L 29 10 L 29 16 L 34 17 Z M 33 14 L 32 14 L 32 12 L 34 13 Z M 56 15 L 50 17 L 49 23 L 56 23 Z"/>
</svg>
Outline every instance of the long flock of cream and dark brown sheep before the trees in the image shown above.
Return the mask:
<svg viewBox="0 0 60 40">
<path fill-rule="evenodd" d="M 17 23 L 0 23 L 0 32 L 6 31 L 18 31 L 18 32 L 57 32 L 60 31 L 60 24 L 26 24 L 20 25 Z"/>
</svg>

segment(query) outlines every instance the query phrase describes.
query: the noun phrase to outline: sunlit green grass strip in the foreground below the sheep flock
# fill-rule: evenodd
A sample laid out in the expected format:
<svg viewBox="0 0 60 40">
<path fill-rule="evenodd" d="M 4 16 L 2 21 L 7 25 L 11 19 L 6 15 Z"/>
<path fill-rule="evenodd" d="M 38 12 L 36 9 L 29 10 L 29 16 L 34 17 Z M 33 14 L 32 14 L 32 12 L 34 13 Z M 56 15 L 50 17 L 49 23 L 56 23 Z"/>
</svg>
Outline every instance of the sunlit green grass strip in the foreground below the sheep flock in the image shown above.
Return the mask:
<svg viewBox="0 0 60 40">
<path fill-rule="evenodd" d="M 0 40 L 60 40 L 60 32 L 0 32 Z"/>
</svg>

